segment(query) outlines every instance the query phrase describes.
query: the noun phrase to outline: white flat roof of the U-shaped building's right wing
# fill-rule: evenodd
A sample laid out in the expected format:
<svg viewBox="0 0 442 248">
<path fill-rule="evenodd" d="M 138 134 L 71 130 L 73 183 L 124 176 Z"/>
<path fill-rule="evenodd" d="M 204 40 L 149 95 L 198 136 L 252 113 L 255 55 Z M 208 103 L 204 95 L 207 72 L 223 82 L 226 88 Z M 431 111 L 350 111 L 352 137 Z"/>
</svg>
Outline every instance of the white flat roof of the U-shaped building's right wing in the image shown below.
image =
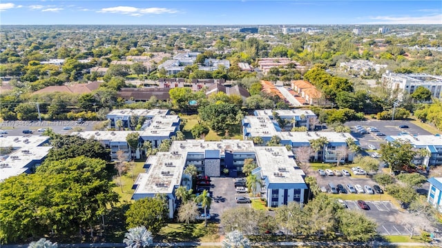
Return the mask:
<svg viewBox="0 0 442 248">
<path fill-rule="evenodd" d="M 255 151 L 261 176 L 267 176 L 269 183 L 304 183 L 304 172 L 285 147 L 255 147 Z"/>
</svg>

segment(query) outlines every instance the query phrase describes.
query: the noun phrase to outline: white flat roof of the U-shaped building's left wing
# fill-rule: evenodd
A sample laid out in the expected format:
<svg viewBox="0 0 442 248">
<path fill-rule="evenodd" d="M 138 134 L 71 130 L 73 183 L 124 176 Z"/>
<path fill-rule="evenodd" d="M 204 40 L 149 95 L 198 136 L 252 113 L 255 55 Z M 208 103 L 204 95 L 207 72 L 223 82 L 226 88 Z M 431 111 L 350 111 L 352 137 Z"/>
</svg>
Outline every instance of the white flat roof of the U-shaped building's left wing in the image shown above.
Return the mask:
<svg viewBox="0 0 442 248">
<path fill-rule="evenodd" d="M 134 194 L 172 194 L 175 186 L 180 186 L 186 152 L 158 152 L 149 156 L 146 164 L 151 165 L 147 173 L 141 173 L 135 185 Z"/>
</svg>

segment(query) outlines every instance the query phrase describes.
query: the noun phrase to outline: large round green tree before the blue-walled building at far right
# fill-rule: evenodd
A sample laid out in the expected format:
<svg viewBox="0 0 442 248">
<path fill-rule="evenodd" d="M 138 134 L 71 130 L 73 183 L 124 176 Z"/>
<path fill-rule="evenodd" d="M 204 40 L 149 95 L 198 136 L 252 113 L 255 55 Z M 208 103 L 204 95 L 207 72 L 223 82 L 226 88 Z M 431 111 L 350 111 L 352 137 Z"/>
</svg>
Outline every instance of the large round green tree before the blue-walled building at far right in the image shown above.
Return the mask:
<svg viewBox="0 0 442 248">
<path fill-rule="evenodd" d="M 414 147 L 406 141 L 396 140 L 381 144 L 381 161 L 390 166 L 390 170 L 401 170 L 403 167 L 412 165 L 412 160 L 417 152 Z"/>
</svg>

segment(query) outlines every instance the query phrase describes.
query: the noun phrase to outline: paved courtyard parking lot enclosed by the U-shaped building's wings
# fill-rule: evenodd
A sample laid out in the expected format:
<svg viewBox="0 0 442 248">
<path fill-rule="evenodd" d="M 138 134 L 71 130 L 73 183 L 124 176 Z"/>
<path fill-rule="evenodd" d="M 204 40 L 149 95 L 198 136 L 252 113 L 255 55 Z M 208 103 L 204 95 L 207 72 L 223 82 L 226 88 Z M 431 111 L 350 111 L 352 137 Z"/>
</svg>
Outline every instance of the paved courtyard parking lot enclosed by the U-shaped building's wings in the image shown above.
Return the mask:
<svg viewBox="0 0 442 248">
<path fill-rule="evenodd" d="M 235 198 L 237 196 L 248 197 L 249 194 L 237 194 L 235 189 L 235 180 L 236 178 L 211 178 L 211 196 L 213 199 L 210 207 L 210 214 L 213 216 L 212 220 L 219 222 L 222 212 L 224 212 L 226 209 L 231 209 L 238 206 L 251 207 L 250 204 L 247 203 L 236 203 Z"/>
</svg>

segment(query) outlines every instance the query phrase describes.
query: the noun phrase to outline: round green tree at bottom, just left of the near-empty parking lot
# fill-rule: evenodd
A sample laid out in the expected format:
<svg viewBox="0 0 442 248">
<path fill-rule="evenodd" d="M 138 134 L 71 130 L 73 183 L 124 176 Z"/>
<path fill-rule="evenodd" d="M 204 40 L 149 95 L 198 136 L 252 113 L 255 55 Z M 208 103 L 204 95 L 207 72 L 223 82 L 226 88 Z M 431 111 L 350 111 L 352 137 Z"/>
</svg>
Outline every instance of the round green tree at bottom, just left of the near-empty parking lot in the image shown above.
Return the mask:
<svg viewBox="0 0 442 248">
<path fill-rule="evenodd" d="M 339 229 L 349 241 L 367 242 L 376 236 L 377 224 L 361 211 L 339 211 Z"/>
</svg>

